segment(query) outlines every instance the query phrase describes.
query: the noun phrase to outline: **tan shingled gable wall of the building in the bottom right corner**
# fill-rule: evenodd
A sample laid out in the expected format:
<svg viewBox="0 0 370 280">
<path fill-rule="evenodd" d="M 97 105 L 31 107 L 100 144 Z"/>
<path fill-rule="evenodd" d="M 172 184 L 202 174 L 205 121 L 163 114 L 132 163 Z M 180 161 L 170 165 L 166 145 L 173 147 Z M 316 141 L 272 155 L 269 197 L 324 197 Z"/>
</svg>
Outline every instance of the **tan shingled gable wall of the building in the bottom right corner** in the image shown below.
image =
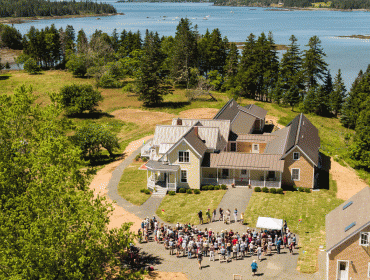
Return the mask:
<svg viewBox="0 0 370 280">
<path fill-rule="evenodd" d="M 370 232 L 370 226 L 365 228 L 365 232 Z M 367 278 L 368 263 L 370 263 L 370 252 L 366 252 L 359 245 L 360 233 L 343 242 L 329 254 L 329 279 L 337 279 L 338 260 L 349 261 L 348 279 L 364 280 Z M 351 264 L 351 261 L 353 264 Z"/>
</svg>

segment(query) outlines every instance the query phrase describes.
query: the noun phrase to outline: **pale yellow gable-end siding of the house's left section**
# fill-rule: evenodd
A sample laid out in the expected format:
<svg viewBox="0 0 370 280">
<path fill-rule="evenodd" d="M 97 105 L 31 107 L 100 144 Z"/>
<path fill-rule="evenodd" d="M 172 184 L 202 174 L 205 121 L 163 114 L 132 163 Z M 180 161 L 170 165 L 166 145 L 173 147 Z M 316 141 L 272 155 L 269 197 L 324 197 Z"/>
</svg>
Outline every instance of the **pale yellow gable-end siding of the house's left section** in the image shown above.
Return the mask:
<svg viewBox="0 0 370 280">
<path fill-rule="evenodd" d="M 189 163 L 179 162 L 179 151 L 189 151 Z M 200 182 L 202 176 L 200 174 L 201 158 L 195 151 L 186 144 L 185 141 L 181 142 L 169 155 L 168 160 L 173 165 L 179 165 L 180 170 L 177 173 L 177 186 L 178 188 L 191 188 L 200 189 Z M 187 170 L 188 182 L 181 182 L 181 170 Z"/>
</svg>

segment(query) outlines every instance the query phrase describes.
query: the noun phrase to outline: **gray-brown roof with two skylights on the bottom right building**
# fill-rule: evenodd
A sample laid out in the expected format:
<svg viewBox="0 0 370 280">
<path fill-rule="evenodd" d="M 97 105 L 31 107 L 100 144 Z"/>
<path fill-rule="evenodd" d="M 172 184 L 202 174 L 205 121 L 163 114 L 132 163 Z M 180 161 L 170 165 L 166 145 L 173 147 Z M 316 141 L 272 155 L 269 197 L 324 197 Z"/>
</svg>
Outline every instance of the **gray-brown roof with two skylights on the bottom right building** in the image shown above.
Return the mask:
<svg viewBox="0 0 370 280">
<path fill-rule="evenodd" d="M 342 244 L 366 224 L 370 224 L 370 187 L 365 187 L 346 202 L 335 208 L 325 217 L 326 250 L 330 251 Z M 352 204 L 345 209 L 349 202 Z M 353 227 L 346 227 L 356 223 Z"/>
</svg>

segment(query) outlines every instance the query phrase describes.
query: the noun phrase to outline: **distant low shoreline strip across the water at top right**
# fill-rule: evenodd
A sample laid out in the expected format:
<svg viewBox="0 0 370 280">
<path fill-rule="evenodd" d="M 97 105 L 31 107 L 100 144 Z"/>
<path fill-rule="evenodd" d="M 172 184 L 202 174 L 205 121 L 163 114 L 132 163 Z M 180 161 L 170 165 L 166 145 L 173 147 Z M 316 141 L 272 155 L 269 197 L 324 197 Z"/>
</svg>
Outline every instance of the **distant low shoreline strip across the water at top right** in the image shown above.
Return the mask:
<svg viewBox="0 0 370 280">
<path fill-rule="evenodd" d="M 367 0 L 214 0 L 216 6 L 252 6 L 284 8 L 331 8 L 331 9 L 370 9 Z"/>
</svg>

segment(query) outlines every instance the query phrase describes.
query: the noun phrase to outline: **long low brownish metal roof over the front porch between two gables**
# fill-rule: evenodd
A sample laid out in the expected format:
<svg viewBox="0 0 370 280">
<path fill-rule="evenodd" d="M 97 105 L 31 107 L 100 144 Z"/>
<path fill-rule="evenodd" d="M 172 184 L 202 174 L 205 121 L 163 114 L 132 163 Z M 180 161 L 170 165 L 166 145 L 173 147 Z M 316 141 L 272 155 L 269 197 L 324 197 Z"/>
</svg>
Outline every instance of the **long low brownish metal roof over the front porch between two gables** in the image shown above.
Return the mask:
<svg viewBox="0 0 370 280">
<path fill-rule="evenodd" d="M 283 172 L 284 161 L 279 155 L 221 152 L 209 154 L 209 160 L 203 160 L 202 167 Z"/>
</svg>

